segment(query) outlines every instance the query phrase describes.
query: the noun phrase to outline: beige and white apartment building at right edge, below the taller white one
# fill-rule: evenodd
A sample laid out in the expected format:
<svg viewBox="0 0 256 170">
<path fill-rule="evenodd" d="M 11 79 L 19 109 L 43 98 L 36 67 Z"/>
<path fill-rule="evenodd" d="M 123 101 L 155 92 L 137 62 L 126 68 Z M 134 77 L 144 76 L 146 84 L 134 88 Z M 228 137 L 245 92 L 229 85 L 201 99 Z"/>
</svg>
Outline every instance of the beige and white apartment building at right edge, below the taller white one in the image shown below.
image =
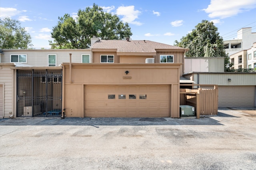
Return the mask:
<svg viewBox="0 0 256 170">
<path fill-rule="evenodd" d="M 230 55 L 231 69 L 256 68 L 256 42 L 249 49 L 244 49 Z"/>
</svg>

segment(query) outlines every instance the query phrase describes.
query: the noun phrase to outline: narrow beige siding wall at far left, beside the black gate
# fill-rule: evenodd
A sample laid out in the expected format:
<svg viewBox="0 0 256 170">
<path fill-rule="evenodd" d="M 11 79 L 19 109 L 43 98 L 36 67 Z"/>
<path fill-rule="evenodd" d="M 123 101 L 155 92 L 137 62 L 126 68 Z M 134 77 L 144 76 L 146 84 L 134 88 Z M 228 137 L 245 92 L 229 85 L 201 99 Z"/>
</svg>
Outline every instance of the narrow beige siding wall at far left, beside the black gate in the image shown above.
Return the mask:
<svg viewBox="0 0 256 170">
<path fill-rule="evenodd" d="M 12 115 L 14 111 L 14 70 L 12 64 L 0 63 L 0 85 L 3 89 L 3 117 Z"/>
</svg>

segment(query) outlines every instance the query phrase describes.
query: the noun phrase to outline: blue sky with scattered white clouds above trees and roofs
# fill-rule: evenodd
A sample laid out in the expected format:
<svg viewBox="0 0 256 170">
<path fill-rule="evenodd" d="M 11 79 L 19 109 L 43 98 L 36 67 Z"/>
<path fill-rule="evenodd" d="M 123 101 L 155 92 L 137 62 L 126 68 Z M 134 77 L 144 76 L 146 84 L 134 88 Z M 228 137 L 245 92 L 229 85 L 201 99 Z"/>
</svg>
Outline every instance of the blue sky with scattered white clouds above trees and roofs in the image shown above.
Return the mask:
<svg viewBox="0 0 256 170">
<path fill-rule="evenodd" d="M 19 20 L 32 37 L 33 48 L 49 49 L 58 17 L 76 17 L 93 3 L 128 22 L 132 40 L 173 45 L 202 20 L 213 21 L 224 40 L 237 38 L 240 28 L 256 32 L 256 0 L 0 0 L 0 17 Z"/>
</svg>

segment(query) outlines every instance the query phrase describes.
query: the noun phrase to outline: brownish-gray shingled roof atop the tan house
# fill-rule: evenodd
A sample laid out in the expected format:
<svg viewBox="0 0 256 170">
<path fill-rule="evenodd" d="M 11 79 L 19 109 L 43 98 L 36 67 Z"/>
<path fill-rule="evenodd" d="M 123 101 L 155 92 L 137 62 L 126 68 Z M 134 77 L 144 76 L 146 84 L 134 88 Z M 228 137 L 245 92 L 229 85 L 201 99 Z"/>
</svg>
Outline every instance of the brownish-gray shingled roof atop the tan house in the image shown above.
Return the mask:
<svg viewBox="0 0 256 170">
<path fill-rule="evenodd" d="M 157 49 L 178 49 L 187 50 L 185 48 L 168 45 L 164 43 L 152 42 L 148 40 L 100 40 L 95 42 L 91 49 L 116 49 L 116 52 L 130 53 L 155 53 Z"/>
</svg>

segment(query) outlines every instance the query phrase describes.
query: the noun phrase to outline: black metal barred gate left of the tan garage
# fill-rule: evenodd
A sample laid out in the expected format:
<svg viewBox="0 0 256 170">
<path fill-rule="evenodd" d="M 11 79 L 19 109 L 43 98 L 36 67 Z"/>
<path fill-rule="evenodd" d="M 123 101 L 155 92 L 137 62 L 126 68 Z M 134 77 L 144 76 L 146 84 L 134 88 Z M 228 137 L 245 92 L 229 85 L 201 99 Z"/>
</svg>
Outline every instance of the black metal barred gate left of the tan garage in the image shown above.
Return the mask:
<svg viewBox="0 0 256 170">
<path fill-rule="evenodd" d="M 62 70 L 17 70 L 17 117 L 61 117 Z"/>
</svg>

